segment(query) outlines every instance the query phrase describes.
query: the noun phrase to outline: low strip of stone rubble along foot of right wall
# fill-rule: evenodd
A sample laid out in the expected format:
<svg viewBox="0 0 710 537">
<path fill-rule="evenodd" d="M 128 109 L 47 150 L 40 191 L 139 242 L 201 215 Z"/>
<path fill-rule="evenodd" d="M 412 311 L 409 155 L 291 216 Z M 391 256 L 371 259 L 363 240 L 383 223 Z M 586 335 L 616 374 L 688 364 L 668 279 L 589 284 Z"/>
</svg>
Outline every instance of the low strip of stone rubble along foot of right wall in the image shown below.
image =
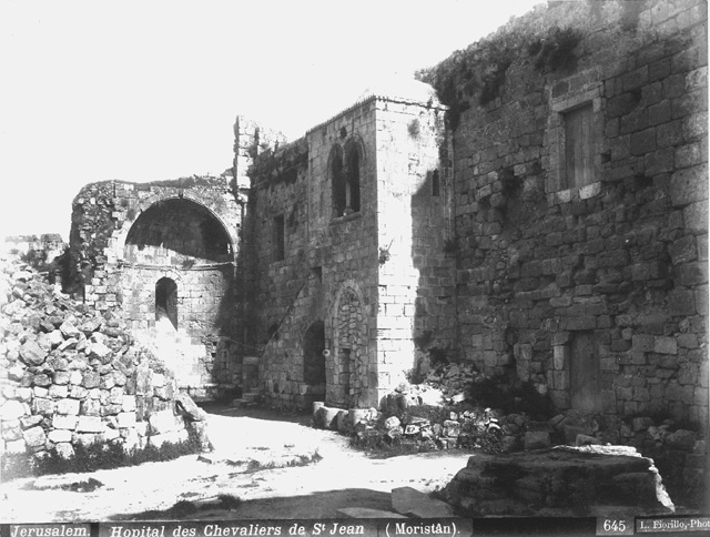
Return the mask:
<svg viewBox="0 0 710 537">
<path fill-rule="evenodd" d="M 464 447 L 513 454 L 554 446 L 625 445 L 651 457 L 669 487 L 689 497 L 700 494 L 708 459 L 702 434 L 672 419 L 623 421 L 574 411 L 540 419 L 525 412 L 481 408 L 469 397 L 484 379 L 471 365 L 450 364 L 429 373 L 422 384 L 399 386 L 385 397 L 381 411 L 316 404 L 314 423 L 352 434 L 363 446 L 399 442 L 423 450 Z M 427 411 L 422 412 L 424 408 Z"/>
</svg>

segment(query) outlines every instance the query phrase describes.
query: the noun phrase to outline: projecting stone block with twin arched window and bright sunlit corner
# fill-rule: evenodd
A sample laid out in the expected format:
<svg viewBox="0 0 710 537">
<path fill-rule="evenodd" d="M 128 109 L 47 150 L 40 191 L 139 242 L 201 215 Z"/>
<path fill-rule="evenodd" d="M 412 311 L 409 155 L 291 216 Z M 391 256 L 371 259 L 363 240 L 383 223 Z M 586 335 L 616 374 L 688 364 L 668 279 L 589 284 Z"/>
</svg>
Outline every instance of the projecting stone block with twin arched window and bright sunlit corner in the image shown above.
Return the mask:
<svg viewBox="0 0 710 537">
<path fill-rule="evenodd" d="M 454 347 L 444 109 L 412 85 L 364 98 L 252 168 L 250 311 L 274 402 L 377 406 L 416 367 L 415 341 Z"/>
</svg>

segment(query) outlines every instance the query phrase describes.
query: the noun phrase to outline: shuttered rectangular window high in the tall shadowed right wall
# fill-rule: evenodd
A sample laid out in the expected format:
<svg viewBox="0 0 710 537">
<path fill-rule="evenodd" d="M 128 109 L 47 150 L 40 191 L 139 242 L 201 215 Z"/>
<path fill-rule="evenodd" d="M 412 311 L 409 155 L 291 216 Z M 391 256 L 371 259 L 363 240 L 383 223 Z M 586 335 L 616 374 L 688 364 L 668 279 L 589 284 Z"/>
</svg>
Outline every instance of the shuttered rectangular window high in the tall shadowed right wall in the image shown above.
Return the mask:
<svg viewBox="0 0 710 537">
<path fill-rule="evenodd" d="M 591 103 L 565 112 L 565 176 L 568 189 L 595 182 Z"/>
</svg>

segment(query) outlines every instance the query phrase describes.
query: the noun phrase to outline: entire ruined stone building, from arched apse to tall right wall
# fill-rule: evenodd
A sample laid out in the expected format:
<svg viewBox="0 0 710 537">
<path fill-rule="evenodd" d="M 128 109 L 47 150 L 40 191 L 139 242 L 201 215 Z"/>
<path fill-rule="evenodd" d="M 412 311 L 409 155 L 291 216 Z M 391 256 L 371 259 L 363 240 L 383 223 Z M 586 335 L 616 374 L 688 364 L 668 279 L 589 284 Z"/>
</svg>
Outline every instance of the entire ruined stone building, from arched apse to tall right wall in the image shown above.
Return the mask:
<svg viewBox="0 0 710 537">
<path fill-rule="evenodd" d="M 376 407 L 446 356 L 707 425 L 707 4 L 548 2 L 419 78 L 291 143 L 237 118 L 222 178 L 88 185 L 87 302 L 170 324 L 197 397 Z"/>
</svg>

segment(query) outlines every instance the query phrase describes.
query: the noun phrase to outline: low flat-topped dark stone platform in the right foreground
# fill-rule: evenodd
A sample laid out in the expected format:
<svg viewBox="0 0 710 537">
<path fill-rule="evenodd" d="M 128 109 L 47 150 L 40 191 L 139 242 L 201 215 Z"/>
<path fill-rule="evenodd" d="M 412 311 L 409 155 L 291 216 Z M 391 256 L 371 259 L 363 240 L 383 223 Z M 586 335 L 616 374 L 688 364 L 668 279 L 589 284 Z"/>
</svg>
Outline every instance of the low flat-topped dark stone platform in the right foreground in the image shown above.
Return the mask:
<svg viewBox="0 0 710 537">
<path fill-rule="evenodd" d="M 458 515 L 661 515 L 674 506 L 653 466 L 627 446 L 474 455 L 444 490 Z"/>
</svg>

